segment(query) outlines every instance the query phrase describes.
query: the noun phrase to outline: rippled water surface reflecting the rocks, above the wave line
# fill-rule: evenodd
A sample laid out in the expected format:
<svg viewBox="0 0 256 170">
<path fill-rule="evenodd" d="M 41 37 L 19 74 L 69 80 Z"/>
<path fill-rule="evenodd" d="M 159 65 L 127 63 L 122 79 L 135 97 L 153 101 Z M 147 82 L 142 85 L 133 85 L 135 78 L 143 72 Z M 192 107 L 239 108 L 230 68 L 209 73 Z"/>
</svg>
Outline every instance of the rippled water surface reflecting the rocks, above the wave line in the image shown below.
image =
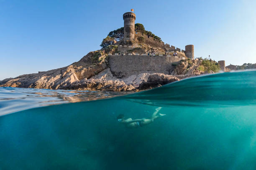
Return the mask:
<svg viewBox="0 0 256 170">
<path fill-rule="evenodd" d="M 34 107 L 98 100 L 128 93 L 0 87 L 0 116 Z"/>
</svg>

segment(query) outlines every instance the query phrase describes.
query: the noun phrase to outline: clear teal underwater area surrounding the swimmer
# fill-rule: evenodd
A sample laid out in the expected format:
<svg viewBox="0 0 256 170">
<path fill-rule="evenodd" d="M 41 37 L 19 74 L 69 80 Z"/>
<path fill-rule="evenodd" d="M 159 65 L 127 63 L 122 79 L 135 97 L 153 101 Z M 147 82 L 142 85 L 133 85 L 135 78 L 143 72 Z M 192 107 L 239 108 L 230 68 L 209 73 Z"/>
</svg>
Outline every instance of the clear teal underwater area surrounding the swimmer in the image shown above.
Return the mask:
<svg viewBox="0 0 256 170">
<path fill-rule="evenodd" d="M 128 129 L 116 117 L 166 116 Z M 0 169 L 255 170 L 256 71 L 0 117 Z"/>
</svg>

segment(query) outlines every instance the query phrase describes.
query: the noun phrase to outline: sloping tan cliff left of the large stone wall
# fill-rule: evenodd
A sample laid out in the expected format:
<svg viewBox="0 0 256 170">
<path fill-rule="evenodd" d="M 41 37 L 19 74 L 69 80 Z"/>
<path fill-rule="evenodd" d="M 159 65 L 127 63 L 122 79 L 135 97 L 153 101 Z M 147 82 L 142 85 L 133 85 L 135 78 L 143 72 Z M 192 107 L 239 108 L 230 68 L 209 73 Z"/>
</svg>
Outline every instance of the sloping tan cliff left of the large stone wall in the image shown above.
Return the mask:
<svg viewBox="0 0 256 170">
<path fill-rule="evenodd" d="M 83 78 L 90 78 L 105 68 L 106 56 L 98 51 L 89 52 L 79 62 L 67 67 L 8 78 L 0 81 L 0 86 L 58 89 Z"/>
</svg>

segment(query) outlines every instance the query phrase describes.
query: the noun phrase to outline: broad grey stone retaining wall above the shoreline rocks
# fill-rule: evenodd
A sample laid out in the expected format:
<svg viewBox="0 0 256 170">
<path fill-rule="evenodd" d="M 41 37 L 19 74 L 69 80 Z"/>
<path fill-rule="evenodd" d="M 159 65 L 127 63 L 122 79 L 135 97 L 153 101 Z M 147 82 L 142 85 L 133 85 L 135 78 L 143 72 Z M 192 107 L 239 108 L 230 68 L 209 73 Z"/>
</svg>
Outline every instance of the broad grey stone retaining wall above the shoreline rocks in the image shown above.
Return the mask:
<svg viewBox="0 0 256 170">
<path fill-rule="evenodd" d="M 108 55 L 110 70 L 117 77 L 140 73 L 171 74 L 181 57 L 153 55 Z"/>
</svg>

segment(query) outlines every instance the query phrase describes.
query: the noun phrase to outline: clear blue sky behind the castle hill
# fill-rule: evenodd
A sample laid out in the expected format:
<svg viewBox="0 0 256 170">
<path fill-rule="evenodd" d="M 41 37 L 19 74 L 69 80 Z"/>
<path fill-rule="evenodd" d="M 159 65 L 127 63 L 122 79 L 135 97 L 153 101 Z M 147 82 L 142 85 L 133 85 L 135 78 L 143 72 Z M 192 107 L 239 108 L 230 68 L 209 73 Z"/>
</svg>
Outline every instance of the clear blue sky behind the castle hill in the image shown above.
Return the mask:
<svg viewBox="0 0 256 170">
<path fill-rule="evenodd" d="M 195 57 L 256 63 L 254 0 L 0 0 L 0 80 L 80 60 L 131 8 L 165 43 L 195 45 Z"/>
</svg>

